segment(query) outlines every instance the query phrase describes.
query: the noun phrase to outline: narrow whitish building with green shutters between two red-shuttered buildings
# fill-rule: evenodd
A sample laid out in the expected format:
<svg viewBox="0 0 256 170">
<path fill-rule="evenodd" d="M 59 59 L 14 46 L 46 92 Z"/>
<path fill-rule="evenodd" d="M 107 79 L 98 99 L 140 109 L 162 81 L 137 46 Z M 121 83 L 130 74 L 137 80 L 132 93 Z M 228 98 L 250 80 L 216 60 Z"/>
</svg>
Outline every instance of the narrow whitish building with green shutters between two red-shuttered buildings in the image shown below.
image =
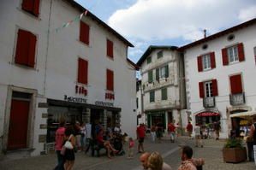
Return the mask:
<svg viewBox="0 0 256 170">
<path fill-rule="evenodd" d="M 166 129 L 170 121 L 182 125 L 186 97 L 183 60 L 177 47 L 150 46 L 137 65 L 141 73 L 142 114 L 146 114 L 147 126 L 161 122 Z"/>
</svg>

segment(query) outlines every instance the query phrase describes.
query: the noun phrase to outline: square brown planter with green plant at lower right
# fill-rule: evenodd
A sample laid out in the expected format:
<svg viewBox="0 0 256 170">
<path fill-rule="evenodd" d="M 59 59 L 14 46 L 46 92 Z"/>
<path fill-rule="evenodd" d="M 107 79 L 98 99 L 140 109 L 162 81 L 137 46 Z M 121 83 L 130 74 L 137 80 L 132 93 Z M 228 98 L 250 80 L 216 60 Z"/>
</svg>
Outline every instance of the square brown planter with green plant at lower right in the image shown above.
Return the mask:
<svg viewBox="0 0 256 170">
<path fill-rule="evenodd" d="M 241 138 L 229 138 L 223 147 L 223 161 L 237 163 L 247 160 L 247 149 Z"/>
</svg>

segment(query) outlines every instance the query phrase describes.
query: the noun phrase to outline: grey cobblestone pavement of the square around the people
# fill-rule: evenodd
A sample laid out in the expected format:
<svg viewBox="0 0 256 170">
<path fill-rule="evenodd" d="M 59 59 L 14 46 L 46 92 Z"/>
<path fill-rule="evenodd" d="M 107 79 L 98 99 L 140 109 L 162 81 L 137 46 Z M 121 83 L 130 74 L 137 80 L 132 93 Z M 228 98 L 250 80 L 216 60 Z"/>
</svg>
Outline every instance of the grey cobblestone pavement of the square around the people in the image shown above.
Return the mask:
<svg viewBox="0 0 256 170">
<path fill-rule="evenodd" d="M 181 163 L 179 145 L 188 144 L 193 147 L 194 141 L 187 137 L 180 137 L 175 144 L 165 138 L 161 143 L 152 144 L 149 138 L 146 138 L 146 151 L 158 151 L 164 161 L 175 170 Z M 253 162 L 241 162 L 237 164 L 223 162 L 222 148 L 223 141 L 215 141 L 213 139 L 205 139 L 203 148 L 193 147 L 193 157 L 205 158 L 204 170 L 255 170 L 256 166 Z M 127 148 L 127 145 L 125 146 Z M 136 148 L 134 149 L 136 150 Z M 76 154 L 74 170 L 139 170 L 140 154 L 135 153 L 134 159 L 127 159 L 126 155 L 116 156 L 112 159 L 107 158 L 104 153 L 100 157 L 91 157 L 83 152 Z M 19 160 L 4 159 L 0 161 L 0 169 L 2 170 L 51 170 L 55 167 L 57 157 L 55 154 L 33 156 Z"/>
</svg>

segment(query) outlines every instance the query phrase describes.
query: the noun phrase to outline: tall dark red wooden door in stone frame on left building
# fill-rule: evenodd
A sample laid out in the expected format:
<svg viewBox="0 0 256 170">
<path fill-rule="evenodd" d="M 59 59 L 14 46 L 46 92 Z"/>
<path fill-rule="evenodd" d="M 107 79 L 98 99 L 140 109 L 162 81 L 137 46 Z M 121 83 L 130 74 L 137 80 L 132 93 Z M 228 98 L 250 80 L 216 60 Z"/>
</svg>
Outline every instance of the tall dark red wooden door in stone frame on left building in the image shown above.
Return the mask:
<svg viewBox="0 0 256 170">
<path fill-rule="evenodd" d="M 12 99 L 9 117 L 8 149 L 27 148 L 29 101 Z"/>
</svg>

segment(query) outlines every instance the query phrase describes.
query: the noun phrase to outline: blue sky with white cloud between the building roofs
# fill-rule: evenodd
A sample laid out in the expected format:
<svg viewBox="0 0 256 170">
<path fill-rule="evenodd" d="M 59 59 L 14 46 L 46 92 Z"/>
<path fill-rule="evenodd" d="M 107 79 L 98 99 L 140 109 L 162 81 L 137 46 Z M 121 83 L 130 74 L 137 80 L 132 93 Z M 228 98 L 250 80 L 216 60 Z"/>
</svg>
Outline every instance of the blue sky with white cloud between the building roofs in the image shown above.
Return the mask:
<svg viewBox="0 0 256 170">
<path fill-rule="evenodd" d="M 119 32 L 138 62 L 149 45 L 182 46 L 256 17 L 256 0 L 75 0 Z"/>
</svg>

